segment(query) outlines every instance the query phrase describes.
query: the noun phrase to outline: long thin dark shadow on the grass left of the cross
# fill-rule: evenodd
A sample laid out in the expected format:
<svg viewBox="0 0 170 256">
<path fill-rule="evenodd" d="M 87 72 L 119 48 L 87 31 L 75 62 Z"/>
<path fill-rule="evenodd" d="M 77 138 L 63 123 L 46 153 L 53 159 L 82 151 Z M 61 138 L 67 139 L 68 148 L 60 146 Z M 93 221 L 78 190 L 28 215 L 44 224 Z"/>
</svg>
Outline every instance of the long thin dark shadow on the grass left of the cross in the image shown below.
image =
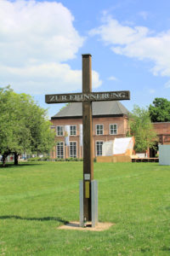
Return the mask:
<svg viewBox="0 0 170 256">
<path fill-rule="evenodd" d="M 8 218 L 16 218 L 16 219 L 24 219 L 24 220 L 37 220 L 37 221 L 49 221 L 49 220 L 54 220 L 54 221 L 58 221 L 60 223 L 63 224 L 68 224 L 69 221 L 59 218 L 59 217 L 44 217 L 44 218 L 25 218 L 25 217 L 20 217 L 20 216 L 15 216 L 15 215 L 11 215 L 11 216 L 0 216 L 0 219 L 8 219 Z"/>
</svg>

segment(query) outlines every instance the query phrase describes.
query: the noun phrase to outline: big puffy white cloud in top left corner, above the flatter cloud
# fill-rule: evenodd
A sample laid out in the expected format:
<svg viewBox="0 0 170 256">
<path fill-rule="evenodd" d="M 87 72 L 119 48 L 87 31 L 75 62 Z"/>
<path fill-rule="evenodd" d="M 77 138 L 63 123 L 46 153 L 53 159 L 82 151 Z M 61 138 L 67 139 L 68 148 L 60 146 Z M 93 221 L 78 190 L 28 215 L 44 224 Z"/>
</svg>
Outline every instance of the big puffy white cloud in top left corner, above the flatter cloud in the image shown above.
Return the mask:
<svg viewBox="0 0 170 256">
<path fill-rule="evenodd" d="M 0 1 L 0 61 L 7 65 L 67 61 L 75 57 L 83 38 L 71 12 L 61 3 Z"/>
</svg>

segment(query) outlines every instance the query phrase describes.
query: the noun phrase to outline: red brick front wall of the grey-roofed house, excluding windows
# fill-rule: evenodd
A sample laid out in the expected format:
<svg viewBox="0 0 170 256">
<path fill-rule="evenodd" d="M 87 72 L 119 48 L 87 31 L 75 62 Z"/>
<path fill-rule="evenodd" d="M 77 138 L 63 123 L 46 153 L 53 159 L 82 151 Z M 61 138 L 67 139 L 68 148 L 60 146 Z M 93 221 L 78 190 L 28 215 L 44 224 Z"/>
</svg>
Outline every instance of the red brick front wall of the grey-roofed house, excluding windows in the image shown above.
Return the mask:
<svg viewBox="0 0 170 256">
<path fill-rule="evenodd" d="M 73 118 L 73 119 L 52 119 L 53 128 L 57 129 L 57 126 L 65 125 L 77 125 L 77 135 L 70 136 L 70 142 L 75 142 L 77 145 L 77 158 L 82 158 L 82 147 L 80 146 L 80 125 L 82 124 L 81 118 Z M 116 125 L 116 134 L 111 135 L 111 126 Z M 103 134 L 96 135 L 96 125 L 103 125 Z M 127 116 L 118 116 L 118 117 L 94 117 L 93 118 L 93 143 L 94 143 L 94 157 L 97 155 L 97 142 L 106 142 L 111 141 L 115 137 L 126 137 L 127 134 Z M 56 144 L 57 142 L 63 142 L 65 145 L 65 137 L 64 136 L 56 136 Z M 56 146 L 57 147 L 57 146 Z M 56 147 L 52 153 L 53 159 L 59 157 L 57 154 Z M 70 147 L 64 146 L 64 158 L 71 157 Z M 98 152 L 99 154 L 99 152 Z"/>
</svg>

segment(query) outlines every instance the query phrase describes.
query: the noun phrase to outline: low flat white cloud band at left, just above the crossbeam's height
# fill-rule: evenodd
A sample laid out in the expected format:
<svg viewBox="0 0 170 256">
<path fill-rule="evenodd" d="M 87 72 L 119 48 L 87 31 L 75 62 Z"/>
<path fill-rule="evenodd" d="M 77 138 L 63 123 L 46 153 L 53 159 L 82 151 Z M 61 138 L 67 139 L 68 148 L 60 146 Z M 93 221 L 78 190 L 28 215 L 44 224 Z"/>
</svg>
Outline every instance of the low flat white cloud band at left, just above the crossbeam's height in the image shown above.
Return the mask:
<svg viewBox="0 0 170 256">
<path fill-rule="evenodd" d="M 0 85 L 11 84 L 12 88 L 26 93 L 61 93 L 82 89 L 82 71 L 71 70 L 68 64 L 47 63 L 29 67 L 1 67 Z M 5 84 L 8 77 L 8 84 Z M 92 73 L 93 88 L 101 84 L 99 73 Z M 2 84 L 3 83 L 3 84 Z"/>
</svg>

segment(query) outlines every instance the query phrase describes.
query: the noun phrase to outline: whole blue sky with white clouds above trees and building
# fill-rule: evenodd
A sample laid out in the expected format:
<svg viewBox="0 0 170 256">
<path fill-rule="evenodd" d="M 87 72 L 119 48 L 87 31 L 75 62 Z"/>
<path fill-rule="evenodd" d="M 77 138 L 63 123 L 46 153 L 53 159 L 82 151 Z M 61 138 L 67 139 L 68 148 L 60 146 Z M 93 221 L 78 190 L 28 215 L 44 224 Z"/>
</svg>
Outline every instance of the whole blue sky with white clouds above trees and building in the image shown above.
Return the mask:
<svg viewBox="0 0 170 256">
<path fill-rule="evenodd" d="M 170 100 L 170 1 L 0 1 L 0 86 L 34 96 L 82 90 L 82 54 L 92 55 L 93 90 L 130 90 L 149 106 Z"/>
</svg>

